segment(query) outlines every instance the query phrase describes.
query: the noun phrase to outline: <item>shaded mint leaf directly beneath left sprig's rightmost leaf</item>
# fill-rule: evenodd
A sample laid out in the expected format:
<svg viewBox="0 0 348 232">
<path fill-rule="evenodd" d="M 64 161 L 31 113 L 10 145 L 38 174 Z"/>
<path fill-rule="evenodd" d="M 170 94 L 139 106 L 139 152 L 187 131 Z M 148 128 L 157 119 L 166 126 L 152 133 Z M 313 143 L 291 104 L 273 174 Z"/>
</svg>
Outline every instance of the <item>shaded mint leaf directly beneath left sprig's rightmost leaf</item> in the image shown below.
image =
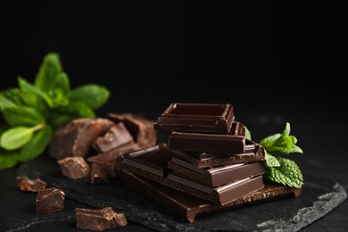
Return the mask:
<svg viewBox="0 0 348 232">
<path fill-rule="evenodd" d="M 60 106 L 58 112 L 70 114 L 73 118 L 94 118 L 95 112 L 85 103 L 70 101 L 69 104 Z"/>
</svg>

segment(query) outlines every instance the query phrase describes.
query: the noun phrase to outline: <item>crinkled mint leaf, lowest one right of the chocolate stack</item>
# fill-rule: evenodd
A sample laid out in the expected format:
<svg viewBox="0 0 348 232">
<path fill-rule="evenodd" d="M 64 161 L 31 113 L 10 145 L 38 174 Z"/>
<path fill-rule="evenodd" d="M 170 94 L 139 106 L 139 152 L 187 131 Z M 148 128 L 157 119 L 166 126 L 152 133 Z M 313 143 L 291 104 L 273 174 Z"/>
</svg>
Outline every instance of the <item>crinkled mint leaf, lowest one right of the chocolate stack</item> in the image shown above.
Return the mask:
<svg viewBox="0 0 348 232">
<path fill-rule="evenodd" d="M 294 161 L 278 157 L 279 167 L 265 167 L 263 177 L 270 181 L 300 188 L 303 184 L 303 177 L 300 168 Z"/>
</svg>

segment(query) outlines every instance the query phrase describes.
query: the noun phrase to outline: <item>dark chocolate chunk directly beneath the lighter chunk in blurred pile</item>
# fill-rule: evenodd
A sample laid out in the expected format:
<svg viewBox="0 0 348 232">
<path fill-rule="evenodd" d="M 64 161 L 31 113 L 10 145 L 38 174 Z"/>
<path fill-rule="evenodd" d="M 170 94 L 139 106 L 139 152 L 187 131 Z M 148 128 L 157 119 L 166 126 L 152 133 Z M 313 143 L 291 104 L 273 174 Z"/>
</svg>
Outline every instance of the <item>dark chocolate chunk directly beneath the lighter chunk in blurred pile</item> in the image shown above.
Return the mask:
<svg viewBox="0 0 348 232">
<path fill-rule="evenodd" d="M 131 141 L 128 144 L 121 145 L 106 153 L 100 153 L 87 158 L 87 162 L 95 163 L 103 170 L 105 177 L 116 178 L 120 171 L 121 156 L 126 153 L 132 153 L 139 150 L 140 147 Z"/>
</svg>

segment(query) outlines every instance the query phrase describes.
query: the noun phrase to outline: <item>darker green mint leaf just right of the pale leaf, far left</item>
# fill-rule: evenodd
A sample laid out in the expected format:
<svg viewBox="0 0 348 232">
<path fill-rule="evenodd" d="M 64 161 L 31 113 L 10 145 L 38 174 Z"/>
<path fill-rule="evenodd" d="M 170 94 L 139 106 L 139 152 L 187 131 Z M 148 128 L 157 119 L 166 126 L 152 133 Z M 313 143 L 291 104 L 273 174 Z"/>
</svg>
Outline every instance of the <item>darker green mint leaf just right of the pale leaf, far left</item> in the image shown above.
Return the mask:
<svg viewBox="0 0 348 232">
<path fill-rule="evenodd" d="M 26 162 L 43 153 L 52 137 L 52 129 L 48 126 L 37 131 L 29 142 L 21 147 L 20 162 Z"/>
</svg>

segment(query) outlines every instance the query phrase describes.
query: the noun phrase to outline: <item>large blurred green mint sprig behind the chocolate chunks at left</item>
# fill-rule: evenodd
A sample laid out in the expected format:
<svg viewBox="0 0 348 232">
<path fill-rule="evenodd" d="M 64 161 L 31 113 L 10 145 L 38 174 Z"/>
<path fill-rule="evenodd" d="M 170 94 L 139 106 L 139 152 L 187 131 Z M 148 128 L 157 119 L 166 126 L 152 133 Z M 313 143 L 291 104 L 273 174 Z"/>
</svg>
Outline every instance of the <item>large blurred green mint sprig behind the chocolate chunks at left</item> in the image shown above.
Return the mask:
<svg viewBox="0 0 348 232">
<path fill-rule="evenodd" d="M 59 55 L 46 54 L 34 84 L 18 77 L 18 86 L 0 91 L 0 170 L 43 153 L 54 131 L 76 118 L 93 118 L 106 103 L 107 88 L 87 84 L 70 89 Z"/>
</svg>

